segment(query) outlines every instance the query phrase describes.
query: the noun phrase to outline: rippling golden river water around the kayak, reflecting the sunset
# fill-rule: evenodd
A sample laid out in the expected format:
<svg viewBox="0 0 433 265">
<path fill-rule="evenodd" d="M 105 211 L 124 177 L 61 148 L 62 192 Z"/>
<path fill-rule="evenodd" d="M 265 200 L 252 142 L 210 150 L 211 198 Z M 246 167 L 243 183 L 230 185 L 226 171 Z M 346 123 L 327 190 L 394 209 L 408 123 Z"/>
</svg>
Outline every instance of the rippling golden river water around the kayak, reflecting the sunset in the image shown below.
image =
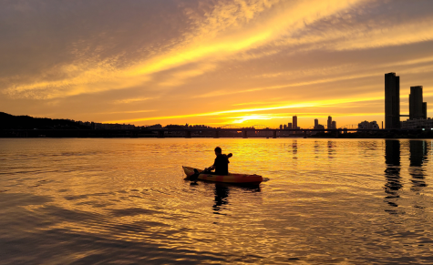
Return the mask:
<svg viewBox="0 0 433 265">
<path fill-rule="evenodd" d="M 1 264 L 432 264 L 431 140 L 0 139 Z M 266 179 L 184 180 L 181 166 Z"/>
</svg>

